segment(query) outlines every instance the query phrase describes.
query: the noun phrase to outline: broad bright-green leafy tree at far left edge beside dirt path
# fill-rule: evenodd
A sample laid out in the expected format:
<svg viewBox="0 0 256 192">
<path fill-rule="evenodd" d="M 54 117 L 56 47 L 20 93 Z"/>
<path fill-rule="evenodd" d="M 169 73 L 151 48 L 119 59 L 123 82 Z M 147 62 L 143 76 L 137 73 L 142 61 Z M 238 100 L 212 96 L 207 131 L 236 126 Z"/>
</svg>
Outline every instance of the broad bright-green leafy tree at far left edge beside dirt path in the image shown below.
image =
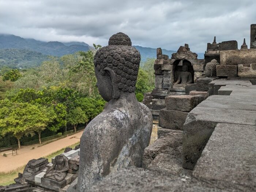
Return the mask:
<svg viewBox="0 0 256 192">
<path fill-rule="evenodd" d="M 4 136 L 11 133 L 18 140 L 19 148 L 22 136 L 41 133 L 52 121 L 51 111 L 40 105 L 14 103 L 5 99 L 0 101 L 0 109 L 0 134 Z"/>
</svg>

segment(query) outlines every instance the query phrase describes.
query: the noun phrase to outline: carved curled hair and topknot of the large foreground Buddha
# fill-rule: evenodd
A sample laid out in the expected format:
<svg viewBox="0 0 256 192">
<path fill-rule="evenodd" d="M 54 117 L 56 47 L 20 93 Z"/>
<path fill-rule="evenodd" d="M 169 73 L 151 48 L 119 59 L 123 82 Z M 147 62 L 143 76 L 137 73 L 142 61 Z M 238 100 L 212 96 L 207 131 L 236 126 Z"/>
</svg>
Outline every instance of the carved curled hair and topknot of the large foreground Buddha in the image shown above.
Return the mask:
<svg viewBox="0 0 256 192">
<path fill-rule="evenodd" d="M 124 33 L 110 37 L 109 45 L 99 49 L 94 56 L 95 70 L 106 75 L 105 68 L 113 70 L 118 89 L 134 92 L 140 65 L 140 53 L 132 47 L 131 39 Z"/>
</svg>

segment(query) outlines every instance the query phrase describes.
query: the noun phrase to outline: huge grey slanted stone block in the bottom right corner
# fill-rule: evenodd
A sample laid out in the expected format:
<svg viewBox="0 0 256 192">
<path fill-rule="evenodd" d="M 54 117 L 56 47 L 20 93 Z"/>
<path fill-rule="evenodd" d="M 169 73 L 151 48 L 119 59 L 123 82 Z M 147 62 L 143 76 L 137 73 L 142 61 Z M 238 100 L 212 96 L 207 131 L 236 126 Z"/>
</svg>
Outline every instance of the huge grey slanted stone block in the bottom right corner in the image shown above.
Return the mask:
<svg viewBox="0 0 256 192">
<path fill-rule="evenodd" d="M 218 188 L 256 191 L 255 125 L 218 123 L 193 176 Z"/>
</svg>

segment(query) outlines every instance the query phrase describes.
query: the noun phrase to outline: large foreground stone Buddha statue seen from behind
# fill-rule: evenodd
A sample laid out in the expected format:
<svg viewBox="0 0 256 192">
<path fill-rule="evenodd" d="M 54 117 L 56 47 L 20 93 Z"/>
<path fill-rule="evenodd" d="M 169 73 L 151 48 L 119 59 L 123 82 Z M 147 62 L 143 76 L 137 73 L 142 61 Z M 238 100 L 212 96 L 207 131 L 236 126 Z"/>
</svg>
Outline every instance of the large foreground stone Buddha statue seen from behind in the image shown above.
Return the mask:
<svg viewBox="0 0 256 192">
<path fill-rule="evenodd" d="M 153 119 L 147 106 L 135 97 L 140 53 L 131 45 L 127 35 L 117 33 L 95 54 L 99 94 L 108 105 L 80 139 L 78 192 L 89 191 L 109 173 L 142 166 Z"/>
</svg>

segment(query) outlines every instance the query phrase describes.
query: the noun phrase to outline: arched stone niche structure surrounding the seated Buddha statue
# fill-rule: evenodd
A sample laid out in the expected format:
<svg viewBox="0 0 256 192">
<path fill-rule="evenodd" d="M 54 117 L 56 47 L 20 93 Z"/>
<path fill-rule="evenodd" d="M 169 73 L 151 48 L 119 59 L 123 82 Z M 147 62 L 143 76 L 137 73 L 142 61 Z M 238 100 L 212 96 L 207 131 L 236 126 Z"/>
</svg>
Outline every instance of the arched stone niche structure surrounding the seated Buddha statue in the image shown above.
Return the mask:
<svg viewBox="0 0 256 192">
<path fill-rule="evenodd" d="M 155 89 L 147 93 L 143 99 L 143 103 L 150 108 L 154 119 L 158 119 L 159 111 L 165 108 L 166 96 L 186 94 L 184 87 L 173 89 L 173 84 L 177 82 L 178 74 L 182 71 L 182 65 L 188 66 L 188 71 L 193 78 L 190 85 L 194 85 L 196 79 L 203 75 L 205 61 L 197 59 L 197 54 L 190 51 L 188 44 L 180 46 L 177 53 L 172 54 L 171 59 L 162 54 L 161 48 L 157 48 L 157 59 L 154 63 Z"/>
</svg>

